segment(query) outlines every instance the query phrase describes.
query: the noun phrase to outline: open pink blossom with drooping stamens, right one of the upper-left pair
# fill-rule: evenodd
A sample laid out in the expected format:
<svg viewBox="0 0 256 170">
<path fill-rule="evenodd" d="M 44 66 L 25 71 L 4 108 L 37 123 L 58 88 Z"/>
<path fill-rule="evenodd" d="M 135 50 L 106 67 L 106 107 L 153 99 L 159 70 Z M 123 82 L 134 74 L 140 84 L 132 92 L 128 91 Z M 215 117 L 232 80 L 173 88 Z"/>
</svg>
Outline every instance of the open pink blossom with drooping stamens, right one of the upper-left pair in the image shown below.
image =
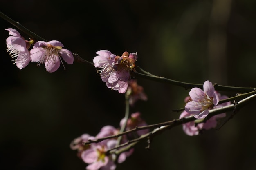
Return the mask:
<svg viewBox="0 0 256 170">
<path fill-rule="evenodd" d="M 38 66 L 44 63 L 46 71 L 50 73 L 56 71 L 60 67 L 61 63 L 63 65 L 61 57 L 65 62 L 67 62 L 67 64 L 73 64 L 73 54 L 63 47 L 63 44 L 56 40 L 49 42 L 38 41 L 30 51 L 31 62 L 38 62 Z"/>
</svg>

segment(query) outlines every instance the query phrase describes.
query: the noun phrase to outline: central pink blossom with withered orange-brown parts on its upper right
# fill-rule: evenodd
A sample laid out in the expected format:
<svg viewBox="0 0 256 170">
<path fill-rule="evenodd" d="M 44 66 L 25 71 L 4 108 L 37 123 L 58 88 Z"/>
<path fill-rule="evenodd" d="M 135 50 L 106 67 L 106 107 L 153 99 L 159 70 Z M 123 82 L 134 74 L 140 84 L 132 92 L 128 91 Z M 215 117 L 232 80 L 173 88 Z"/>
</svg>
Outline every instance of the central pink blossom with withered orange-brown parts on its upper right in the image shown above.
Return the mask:
<svg viewBox="0 0 256 170">
<path fill-rule="evenodd" d="M 130 79 L 130 71 L 135 69 L 137 53 L 124 52 L 123 55 L 116 56 L 108 50 L 97 51 L 98 54 L 93 59 L 94 66 L 99 68 L 98 72 L 103 82 L 108 88 L 125 93 Z"/>
</svg>

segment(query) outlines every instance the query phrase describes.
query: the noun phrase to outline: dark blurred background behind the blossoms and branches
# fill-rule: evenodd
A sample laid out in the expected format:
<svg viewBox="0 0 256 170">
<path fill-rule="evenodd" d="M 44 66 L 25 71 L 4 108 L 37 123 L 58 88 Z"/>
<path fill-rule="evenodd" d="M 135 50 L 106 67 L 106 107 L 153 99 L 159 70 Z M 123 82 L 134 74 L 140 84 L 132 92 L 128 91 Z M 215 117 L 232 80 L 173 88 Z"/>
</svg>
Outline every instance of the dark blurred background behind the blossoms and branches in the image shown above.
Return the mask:
<svg viewBox="0 0 256 170">
<path fill-rule="evenodd" d="M 0 10 L 47 40 L 91 61 L 96 51 L 137 52 L 137 65 L 166 78 L 256 87 L 255 0 L 1 0 Z M 119 126 L 124 95 L 108 89 L 89 64 L 48 73 L 36 62 L 19 70 L 6 53 L 15 28 L 0 19 L 0 169 L 84 170 L 69 148 L 83 133 Z M 20 33 L 28 39 L 29 36 Z M 189 90 L 138 78 L 148 124 L 178 118 Z M 220 92 L 234 96 L 238 92 Z M 255 101 L 219 131 L 190 137 L 182 126 L 135 147 L 117 170 L 256 170 Z M 231 113 L 227 113 L 227 116 Z"/>
</svg>

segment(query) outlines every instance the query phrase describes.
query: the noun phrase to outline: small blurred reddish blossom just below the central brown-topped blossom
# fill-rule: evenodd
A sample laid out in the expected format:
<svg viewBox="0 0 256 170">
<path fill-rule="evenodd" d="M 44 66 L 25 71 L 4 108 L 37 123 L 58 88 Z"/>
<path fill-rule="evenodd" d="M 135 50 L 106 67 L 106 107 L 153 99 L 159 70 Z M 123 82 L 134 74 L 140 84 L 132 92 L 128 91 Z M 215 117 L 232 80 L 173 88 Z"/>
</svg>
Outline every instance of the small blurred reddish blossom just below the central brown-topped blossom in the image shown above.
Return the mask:
<svg viewBox="0 0 256 170">
<path fill-rule="evenodd" d="M 128 81 L 126 94 L 129 96 L 129 104 L 131 106 L 134 106 L 135 102 L 137 102 L 139 99 L 144 101 L 148 100 L 147 95 L 143 91 L 143 87 L 139 86 L 137 84 L 137 80 L 135 79 L 130 79 Z"/>
</svg>

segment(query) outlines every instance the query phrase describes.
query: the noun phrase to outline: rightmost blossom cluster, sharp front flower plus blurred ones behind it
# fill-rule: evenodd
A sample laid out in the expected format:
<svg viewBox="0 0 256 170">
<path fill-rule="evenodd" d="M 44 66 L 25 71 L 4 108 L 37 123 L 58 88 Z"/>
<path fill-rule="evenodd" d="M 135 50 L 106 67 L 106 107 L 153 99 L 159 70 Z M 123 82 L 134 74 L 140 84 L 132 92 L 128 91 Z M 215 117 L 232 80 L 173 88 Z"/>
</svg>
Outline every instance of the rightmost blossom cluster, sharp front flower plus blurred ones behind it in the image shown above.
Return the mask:
<svg viewBox="0 0 256 170">
<path fill-rule="evenodd" d="M 194 115 L 196 119 L 207 117 L 210 109 L 228 106 L 231 102 L 218 104 L 219 100 L 227 99 L 226 95 L 220 95 L 215 91 L 214 86 L 208 80 L 204 82 L 204 91 L 200 88 L 192 88 L 188 97 L 185 98 L 185 110 L 181 113 L 182 117 Z M 226 116 L 226 113 L 214 115 L 207 119 L 204 123 L 195 123 L 191 121 L 182 125 L 183 131 L 189 135 L 198 135 L 204 130 L 209 130 L 217 126 L 218 120 Z"/>
</svg>

